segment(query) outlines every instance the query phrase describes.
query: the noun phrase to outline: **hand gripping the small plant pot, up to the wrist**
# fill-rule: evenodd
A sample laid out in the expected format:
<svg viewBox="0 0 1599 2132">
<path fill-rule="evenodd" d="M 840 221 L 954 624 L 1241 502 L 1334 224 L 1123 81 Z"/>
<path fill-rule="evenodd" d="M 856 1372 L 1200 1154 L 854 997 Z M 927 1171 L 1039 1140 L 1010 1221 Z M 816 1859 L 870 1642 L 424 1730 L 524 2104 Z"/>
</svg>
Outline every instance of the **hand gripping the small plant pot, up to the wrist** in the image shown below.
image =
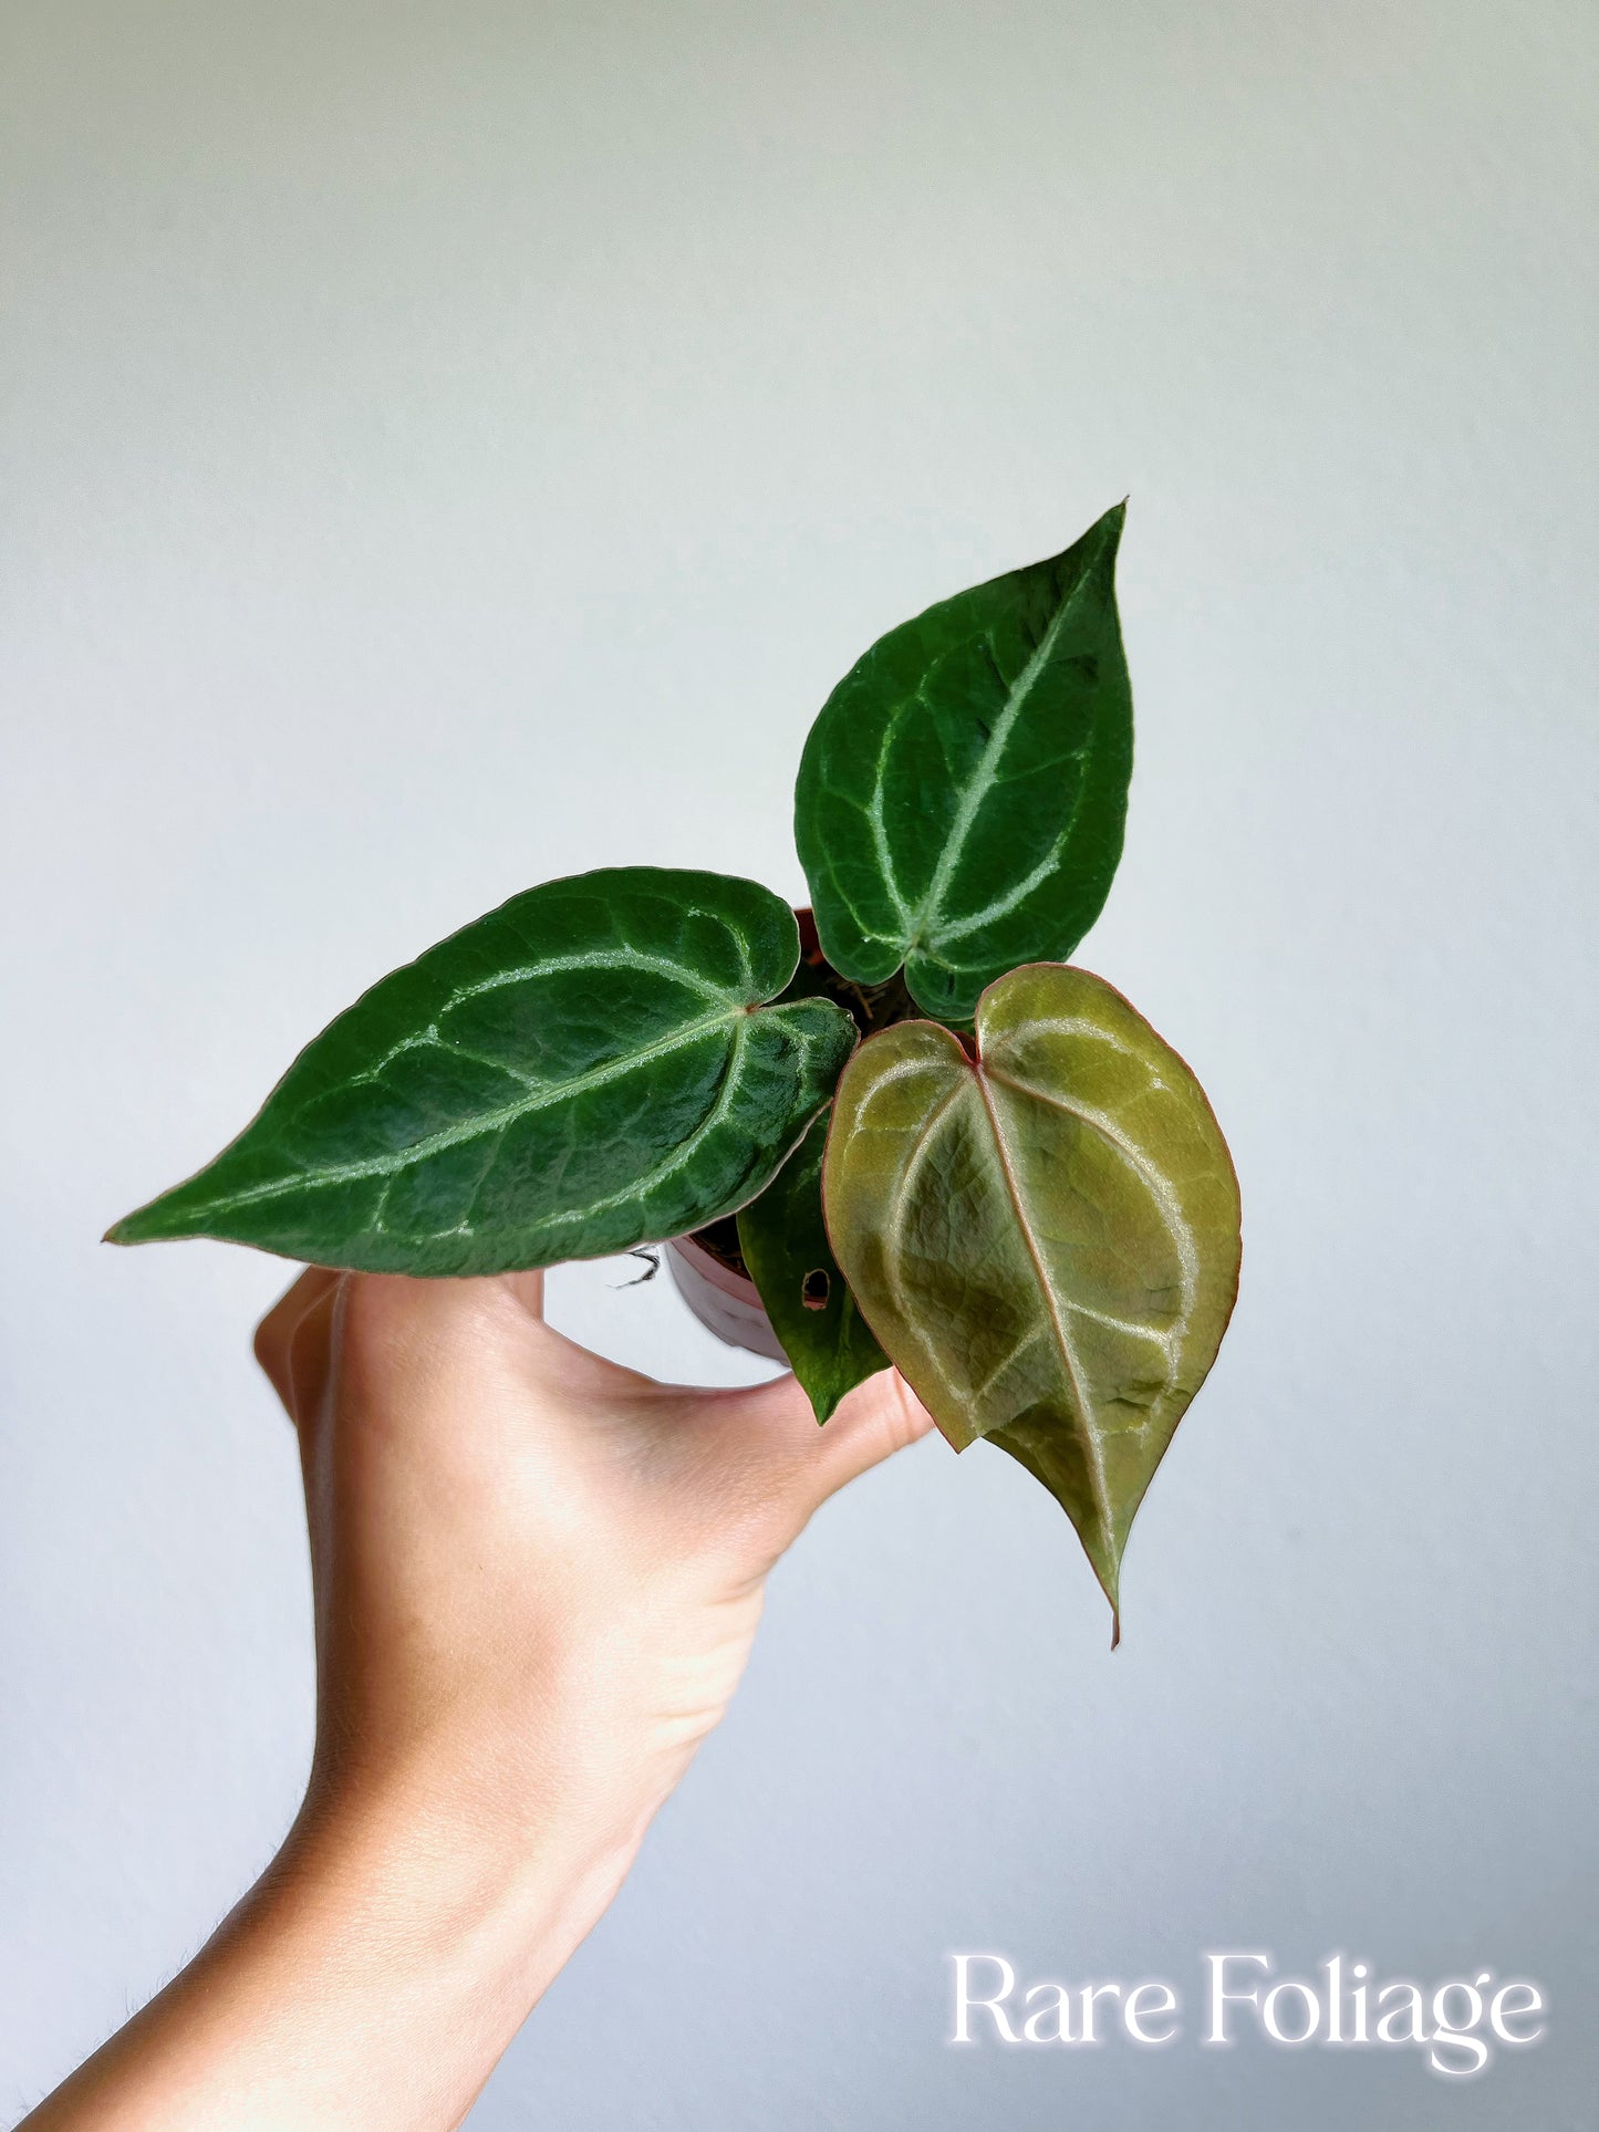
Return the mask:
<svg viewBox="0 0 1599 2132">
<path fill-rule="evenodd" d="M 932 1424 L 889 1371 L 825 1428 L 793 1377 L 655 1384 L 542 1305 L 539 1273 L 313 1271 L 256 1335 L 305 1471 L 309 1814 L 403 1795 L 510 1863 L 554 1810 L 620 1876 L 727 1708 L 776 1558 Z"/>
</svg>

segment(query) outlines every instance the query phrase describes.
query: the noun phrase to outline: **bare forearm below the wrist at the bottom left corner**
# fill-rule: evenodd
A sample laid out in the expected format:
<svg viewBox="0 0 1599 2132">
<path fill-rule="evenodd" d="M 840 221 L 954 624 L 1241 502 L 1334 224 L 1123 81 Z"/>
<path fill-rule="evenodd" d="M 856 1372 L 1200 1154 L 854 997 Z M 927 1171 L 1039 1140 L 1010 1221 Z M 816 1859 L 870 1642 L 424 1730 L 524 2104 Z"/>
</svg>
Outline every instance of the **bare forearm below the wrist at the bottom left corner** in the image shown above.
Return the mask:
<svg viewBox="0 0 1599 2132">
<path fill-rule="evenodd" d="M 629 1861 L 561 1804 L 516 1855 L 399 1791 L 307 1808 L 26 2132 L 448 2132 Z"/>
</svg>

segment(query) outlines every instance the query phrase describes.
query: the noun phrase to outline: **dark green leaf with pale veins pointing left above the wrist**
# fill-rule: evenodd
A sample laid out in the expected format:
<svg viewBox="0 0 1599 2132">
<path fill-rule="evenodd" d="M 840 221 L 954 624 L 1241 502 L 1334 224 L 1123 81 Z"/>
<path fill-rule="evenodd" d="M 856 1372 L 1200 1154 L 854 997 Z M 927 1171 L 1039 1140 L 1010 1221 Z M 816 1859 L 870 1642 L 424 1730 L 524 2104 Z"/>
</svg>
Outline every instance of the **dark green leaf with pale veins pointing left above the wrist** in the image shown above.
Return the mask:
<svg viewBox="0 0 1599 2132">
<path fill-rule="evenodd" d="M 228 1237 L 375 1273 L 597 1258 L 750 1200 L 855 1045 L 753 881 L 550 881 L 373 985 L 113 1243 Z"/>
</svg>

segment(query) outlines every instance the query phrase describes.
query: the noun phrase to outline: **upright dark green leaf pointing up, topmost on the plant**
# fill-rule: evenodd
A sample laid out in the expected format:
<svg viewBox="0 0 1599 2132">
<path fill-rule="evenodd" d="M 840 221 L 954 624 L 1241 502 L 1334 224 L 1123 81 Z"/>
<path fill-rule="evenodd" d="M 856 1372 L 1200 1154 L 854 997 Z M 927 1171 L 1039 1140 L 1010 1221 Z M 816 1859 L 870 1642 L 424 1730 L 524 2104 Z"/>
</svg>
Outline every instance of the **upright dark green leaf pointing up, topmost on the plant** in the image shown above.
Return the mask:
<svg viewBox="0 0 1599 2132">
<path fill-rule="evenodd" d="M 844 976 L 904 964 L 925 1013 L 966 1021 L 987 983 L 1064 959 L 1100 915 L 1132 776 L 1121 516 L 889 631 L 823 706 L 795 842 Z"/>
</svg>

